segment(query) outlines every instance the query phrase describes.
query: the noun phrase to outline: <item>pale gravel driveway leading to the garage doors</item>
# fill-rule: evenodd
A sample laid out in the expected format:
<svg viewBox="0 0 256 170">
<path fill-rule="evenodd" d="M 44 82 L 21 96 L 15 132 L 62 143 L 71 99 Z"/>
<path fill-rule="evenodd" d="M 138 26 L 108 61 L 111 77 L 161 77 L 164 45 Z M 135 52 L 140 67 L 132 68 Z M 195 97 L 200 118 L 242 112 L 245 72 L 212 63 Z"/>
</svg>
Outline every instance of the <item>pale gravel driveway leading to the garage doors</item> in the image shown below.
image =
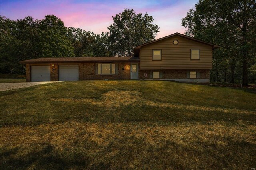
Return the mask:
<svg viewBox="0 0 256 170">
<path fill-rule="evenodd" d="M 60 81 L 43 81 L 43 82 L 26 82 L 26 83 L 0 83 L 0 91 L 19 89 L 24 87 L 30 87 L 34 85 L 42 85 L 48 83 L 56 83 Z"/>
</svg>

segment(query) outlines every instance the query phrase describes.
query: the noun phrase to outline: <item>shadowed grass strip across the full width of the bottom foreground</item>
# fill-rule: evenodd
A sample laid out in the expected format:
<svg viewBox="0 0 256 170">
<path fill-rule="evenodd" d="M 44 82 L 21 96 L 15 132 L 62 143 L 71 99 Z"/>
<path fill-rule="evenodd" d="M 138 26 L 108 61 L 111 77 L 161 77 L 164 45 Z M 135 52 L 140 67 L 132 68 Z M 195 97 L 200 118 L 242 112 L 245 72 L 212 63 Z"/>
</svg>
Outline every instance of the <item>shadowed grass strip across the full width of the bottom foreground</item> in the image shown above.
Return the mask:
<svg viewBox="0 0 256 170">
<path fill-rule="evenodd" d="M 138 136 L 120 136 L 109 139 L 108 145 L 90 145 L 88 141 L 60 150 L 49 144 L 32 144 L 4 148 L 1 154 L 2 169 L 247 169 L 254 166 L 256 145 L 243 141 L 198 139 L 187 145 L 175 139 L 156 143 Z M 97 150 L 97 152 L 94 152 Z M 24 152 L 26 154 L 24 154 Z M 114 154 L 113 154 L 114 153 Z"/>
</svg>

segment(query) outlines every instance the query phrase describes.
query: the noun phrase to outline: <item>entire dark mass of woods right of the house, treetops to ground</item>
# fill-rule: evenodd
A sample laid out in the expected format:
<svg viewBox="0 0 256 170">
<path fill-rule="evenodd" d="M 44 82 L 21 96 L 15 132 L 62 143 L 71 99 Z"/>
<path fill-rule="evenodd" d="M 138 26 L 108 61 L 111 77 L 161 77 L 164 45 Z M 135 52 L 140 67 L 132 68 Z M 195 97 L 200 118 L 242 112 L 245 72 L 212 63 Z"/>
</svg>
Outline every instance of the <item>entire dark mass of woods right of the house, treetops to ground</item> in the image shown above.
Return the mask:
<svg viewBox="0 0 256 170">
<path fill-rule="evenodd" d="M 200 0 L 182 19 L 186 35 L 216 43 L 211 81 L 256 82 L 256 1 Z"/>
</svg>

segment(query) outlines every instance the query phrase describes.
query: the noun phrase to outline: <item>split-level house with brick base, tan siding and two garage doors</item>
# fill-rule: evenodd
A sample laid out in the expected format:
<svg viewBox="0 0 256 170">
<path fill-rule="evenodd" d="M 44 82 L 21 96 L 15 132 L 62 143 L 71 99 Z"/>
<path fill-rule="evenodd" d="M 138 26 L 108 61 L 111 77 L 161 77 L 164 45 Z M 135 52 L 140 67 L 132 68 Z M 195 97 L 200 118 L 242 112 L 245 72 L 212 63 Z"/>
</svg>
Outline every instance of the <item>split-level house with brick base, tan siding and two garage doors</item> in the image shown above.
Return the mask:
<svg viewBox="0 0 256 170">
<path fill-rule="evenodd" d="M 64 57 L 20 61 L 26 81 L 164 79 L 208 83 L 219 46 L 174 33 L 134 48 L 133 57 Z"/>
</svg>

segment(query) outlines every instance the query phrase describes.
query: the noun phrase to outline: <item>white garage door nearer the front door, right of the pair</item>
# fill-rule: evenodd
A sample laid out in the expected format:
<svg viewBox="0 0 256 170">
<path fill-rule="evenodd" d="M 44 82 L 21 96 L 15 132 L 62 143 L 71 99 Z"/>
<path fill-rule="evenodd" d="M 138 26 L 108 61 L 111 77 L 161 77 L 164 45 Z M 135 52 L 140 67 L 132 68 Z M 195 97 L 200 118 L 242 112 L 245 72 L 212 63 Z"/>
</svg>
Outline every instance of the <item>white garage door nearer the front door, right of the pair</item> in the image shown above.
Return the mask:
<svg viewBox="0 0 256 170">
<path fill-rule="evenodd" d="M 79 80 L 78 65 L 59 65 L 59 81 Z"/>
</svg>

